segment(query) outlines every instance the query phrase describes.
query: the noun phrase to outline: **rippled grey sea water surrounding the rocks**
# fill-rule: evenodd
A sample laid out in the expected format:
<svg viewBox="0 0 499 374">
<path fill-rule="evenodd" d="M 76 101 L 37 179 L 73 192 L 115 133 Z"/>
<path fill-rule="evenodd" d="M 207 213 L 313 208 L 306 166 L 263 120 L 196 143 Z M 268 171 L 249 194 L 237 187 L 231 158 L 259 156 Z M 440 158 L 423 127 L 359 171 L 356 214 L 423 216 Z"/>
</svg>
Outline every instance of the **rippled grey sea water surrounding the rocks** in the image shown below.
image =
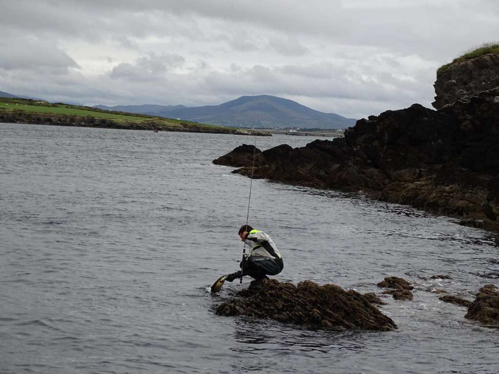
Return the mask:
<svg viewBox="0 0 499 374">
<path fill-rule="evenodd" d="M 255 180 L 250 224 L 280 249 L 281 281 L 409 280 L 413 301 L 381 307 L 397 331 L 215 315 L 242 287 L 209 292 L 238 270 L 250 180 L 211 162 L 253 142 L 0 124 L 0 373 L 499 372 L 498 330 L 427 291 L 472 300 L 498 284 L 498 237 L 361 195 Z M 424 280 L 436 274 L 452 280 Z"/>
</svg>

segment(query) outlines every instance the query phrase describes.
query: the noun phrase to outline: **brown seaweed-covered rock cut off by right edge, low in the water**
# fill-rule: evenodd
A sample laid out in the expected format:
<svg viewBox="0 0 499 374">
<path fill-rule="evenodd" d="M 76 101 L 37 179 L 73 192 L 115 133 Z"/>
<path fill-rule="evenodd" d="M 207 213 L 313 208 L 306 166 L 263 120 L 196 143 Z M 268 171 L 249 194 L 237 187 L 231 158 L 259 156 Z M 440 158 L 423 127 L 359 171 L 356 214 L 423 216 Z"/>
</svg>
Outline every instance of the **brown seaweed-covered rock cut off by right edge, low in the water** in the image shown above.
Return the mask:
<svg viewBox="0 0 499 374">
<path fill-rule="evenodd" d="M 499 293 L 493 284 L 487 284 L 477 293 L 477 298 L 468 307 L 465 318 L 486 325 L 499 325 Z"/>
</svg>

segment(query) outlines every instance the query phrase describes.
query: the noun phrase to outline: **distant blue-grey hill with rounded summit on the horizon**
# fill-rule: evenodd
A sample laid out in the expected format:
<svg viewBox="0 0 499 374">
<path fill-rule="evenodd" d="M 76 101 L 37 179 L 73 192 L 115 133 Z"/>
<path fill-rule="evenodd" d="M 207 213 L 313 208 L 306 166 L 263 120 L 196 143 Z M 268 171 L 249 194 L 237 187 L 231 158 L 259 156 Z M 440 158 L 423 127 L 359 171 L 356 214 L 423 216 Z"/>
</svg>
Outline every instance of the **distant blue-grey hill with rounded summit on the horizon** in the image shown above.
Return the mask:
<svg viewBox="0 0 499 374">
<path fill-rule="evenodd" d="M 355 125 L 356 121 L 353 118 L 342 117 L 334 113 L 319 112 L 295 101 L 270 95 L 242 96 L 220 105 L 202 107 L 183 105 L 106 107 L 105 105 L 97 105 L 96 108 L 235 127 L 346 129 Z"/>
</svg>

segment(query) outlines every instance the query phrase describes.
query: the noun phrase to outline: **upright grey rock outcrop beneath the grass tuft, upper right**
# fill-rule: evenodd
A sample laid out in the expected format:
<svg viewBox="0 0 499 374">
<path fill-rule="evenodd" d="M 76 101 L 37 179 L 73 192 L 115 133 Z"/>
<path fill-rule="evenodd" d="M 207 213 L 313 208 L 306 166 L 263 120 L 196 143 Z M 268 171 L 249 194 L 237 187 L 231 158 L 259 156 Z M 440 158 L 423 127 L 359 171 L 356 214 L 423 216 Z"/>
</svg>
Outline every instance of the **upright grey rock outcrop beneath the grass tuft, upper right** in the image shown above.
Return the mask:
<svg viewBox="0 0 499 374">
<path fill-rule="evenodd" d="M 487 54 L 439 70 L 434 87 L 437 96 L 432 105 L 435 109 L 499 87 L 499 55 Z"/>
</svg>

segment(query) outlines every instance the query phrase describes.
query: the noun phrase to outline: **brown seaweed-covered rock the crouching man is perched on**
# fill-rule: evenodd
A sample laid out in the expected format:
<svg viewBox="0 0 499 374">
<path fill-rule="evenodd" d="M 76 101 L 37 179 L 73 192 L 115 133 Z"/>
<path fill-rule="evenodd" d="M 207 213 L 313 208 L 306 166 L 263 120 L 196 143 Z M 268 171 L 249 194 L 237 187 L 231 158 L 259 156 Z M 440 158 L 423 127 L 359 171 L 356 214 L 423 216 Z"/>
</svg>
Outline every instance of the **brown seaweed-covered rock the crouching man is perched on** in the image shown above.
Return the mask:
<svg viewBox="0 0 499 374">
<path fill-rule="evenodd" d="M 366 297 L 345 291 L 334 284 L 320 286 L 305 280 L 297 286 L 276 279 L 264 280 L 256 290 L 243 290 L 237 298 L 217 307 L 222 316 L 245 315 L 279 322 L 335 330 L 396 329 L 392 319 L 382 314 Z"/>
</svg>

